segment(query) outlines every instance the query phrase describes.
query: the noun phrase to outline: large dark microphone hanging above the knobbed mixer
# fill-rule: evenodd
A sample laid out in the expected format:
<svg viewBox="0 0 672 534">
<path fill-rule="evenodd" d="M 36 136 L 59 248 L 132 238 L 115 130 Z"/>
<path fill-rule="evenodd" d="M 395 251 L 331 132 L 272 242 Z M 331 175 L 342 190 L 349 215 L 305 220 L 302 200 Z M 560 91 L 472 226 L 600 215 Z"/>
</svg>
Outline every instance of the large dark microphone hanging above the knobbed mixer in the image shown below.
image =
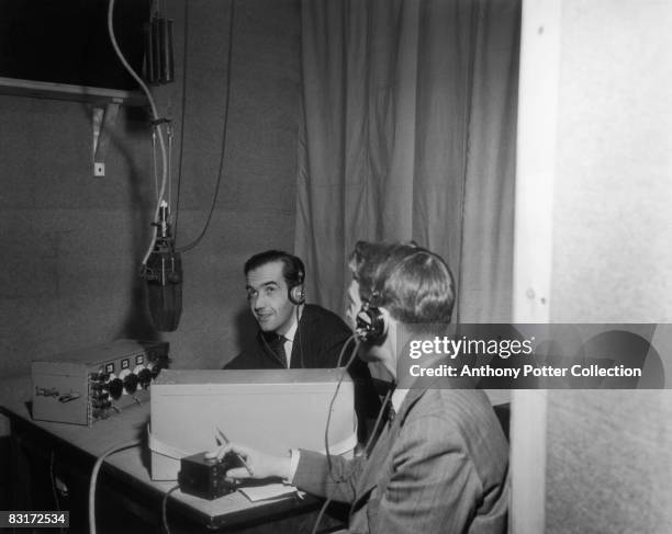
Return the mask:
<svg viewBox="0 0 672 534">
<path fill-rule="evenodd" d="M 141 268 L 147 282 L 147 300 L 154 327 L 161 332 L 177 329 L 182 314 L 182 259 L 175 251 L 175 238 L 168 223 L 168 204 L 161 201 L 154 250 Z"/>
</svg>

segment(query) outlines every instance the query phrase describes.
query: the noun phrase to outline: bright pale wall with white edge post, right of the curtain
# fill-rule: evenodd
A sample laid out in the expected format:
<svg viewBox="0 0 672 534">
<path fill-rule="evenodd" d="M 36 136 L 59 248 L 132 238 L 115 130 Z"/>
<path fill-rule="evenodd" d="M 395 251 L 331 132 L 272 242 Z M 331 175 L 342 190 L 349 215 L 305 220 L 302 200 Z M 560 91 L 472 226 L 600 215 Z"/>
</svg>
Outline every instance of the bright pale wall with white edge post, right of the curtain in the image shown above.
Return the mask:
<svg viewBox="0 0 672 534">
<path fill-rule="evenodd" d="M 524 2 L 518 321 L 672 317 L 671 24 L 669 2 Z M 514 532 L 670 532 L 670 406 L 669 390 L 517 393 Z"/>
</svg>

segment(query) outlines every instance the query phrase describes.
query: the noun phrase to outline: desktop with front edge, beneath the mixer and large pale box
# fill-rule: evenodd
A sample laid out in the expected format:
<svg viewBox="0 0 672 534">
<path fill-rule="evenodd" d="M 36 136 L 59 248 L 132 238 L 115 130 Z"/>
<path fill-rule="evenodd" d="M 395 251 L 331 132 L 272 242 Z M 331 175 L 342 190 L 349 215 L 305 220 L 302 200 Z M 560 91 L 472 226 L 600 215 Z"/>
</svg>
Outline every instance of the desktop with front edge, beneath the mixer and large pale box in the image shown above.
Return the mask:
<svg viewBox="0 0 672 534">
<path fill-rule="evenodd" d="M 26 377 L 30 390 L 30 378 Z M 99 476 L 101 485 L 115 487 L 136 504 L 160 516 L 160 504 L 167 492 L 168 509 L 179 511 L 194 524 L 205 530 L 243 530 L 249 524 L 268 522 L 269 527 L 277 520 L 314 512 L 317 499 L 284 496 L 272 501 L 251 502 L 239 491 L 217 499 L 205 500 L 173 490 L 175 480 L 152 480 L 149 475 L 149 452 L 146 445 L 149 405 L 132 406 L 109 419 L 97 421 L 92 427 L 68 423 L 35 421 L 31 417 L 26 398 L 0 399 L 0 411 L 12 425 L 12 435 L 22 445 L 31 445 L 31 452 L 44 455 L 56 454 L 65 458 L 72 469 L 90 474 L 96 458 L 111 448 L 139 441 L 141 445 L 111 454 L 103 464 Z M 64 459 L 64 461 L 65 461 Z M 53 458 L 52 458 L 53 461 Z M 20 474 L 19 474 L 20 475 Z M 272 529 L 278 532 L 278 529 Z"/>
</svg>

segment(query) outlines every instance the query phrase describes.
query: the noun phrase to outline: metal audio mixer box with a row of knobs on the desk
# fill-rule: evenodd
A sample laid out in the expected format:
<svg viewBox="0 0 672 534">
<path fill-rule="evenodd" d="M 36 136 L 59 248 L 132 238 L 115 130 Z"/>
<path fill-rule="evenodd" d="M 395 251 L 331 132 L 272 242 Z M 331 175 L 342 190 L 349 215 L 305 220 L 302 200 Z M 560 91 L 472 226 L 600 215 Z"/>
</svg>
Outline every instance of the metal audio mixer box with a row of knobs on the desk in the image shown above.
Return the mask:
<svg viewBox="0 0 672 534">
<path fill-rule="evenodd" d="M 169 344 L 120 339 L 32 362 L 33 419 L 91 425 L 149 400 Z"/>
</svg>

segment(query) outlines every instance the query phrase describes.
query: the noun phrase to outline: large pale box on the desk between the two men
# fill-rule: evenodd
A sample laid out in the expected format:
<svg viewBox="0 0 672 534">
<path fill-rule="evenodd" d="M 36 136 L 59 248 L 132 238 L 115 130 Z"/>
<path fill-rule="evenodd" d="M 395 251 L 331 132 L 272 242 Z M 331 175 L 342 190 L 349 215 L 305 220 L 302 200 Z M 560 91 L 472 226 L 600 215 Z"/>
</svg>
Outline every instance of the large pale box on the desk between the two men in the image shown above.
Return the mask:
<svg viewBox="0 0 672 534">
<path fill-rule="evenodd" d="M 329 402 L 341 370 L 164 371 L 152 386 L 152 478 L 176 480 L 180 458 L 216 446 L 221 429 L 235 443 L 268 454 L 324 450 Z M 352 382 L 333 406 L 329 452 L 357 444 Z"/>
</svg>

